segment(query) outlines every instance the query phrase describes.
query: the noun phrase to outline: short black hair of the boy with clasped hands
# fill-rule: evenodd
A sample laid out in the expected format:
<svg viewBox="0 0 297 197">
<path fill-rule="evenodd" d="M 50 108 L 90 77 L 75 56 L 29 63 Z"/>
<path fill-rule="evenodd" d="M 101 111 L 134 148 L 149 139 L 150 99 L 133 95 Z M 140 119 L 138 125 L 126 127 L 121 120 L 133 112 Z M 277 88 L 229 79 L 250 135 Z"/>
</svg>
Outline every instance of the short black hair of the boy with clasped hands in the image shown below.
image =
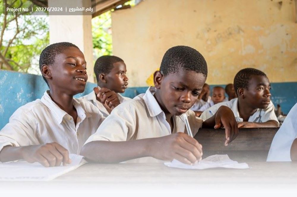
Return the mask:
<svg viewBox="0 0 297 197">
<path fill-rule="evenodd" d="M 97 82 L 99 81 L 99 75 L 101 73 L 108 74 L 113 69 L 113 64 L 116 62 L 124 62 L 121 58 L 113 55 L 104 55 L 99 57 L 94 65 L 94 73 L 96 75 Z"/>
</svg>

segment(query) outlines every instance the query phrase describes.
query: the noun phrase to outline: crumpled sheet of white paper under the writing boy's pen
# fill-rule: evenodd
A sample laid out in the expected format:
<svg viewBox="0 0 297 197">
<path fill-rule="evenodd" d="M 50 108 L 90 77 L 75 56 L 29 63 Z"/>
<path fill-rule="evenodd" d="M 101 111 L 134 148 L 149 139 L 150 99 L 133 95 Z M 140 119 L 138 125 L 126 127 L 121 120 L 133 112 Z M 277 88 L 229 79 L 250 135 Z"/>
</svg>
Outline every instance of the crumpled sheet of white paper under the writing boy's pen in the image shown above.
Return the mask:
<svg viewBox="0 0 297 197">
<path fill-rule="evenodd" d="M 181 163 L 178 160 L 173 160 L 172 162 L 166 162 L 164 164 L 165 166 L 172 167 L 172 168 L 197 169 L 197 170 L 203 170 L 208 168 L 236 168 L 236 169 L 249 168 L 247 163 L 238 163 L 237 161 L 233 161 L 228 157 L 228 155 L 211 155 L 194 165 Z"/>
</svg>

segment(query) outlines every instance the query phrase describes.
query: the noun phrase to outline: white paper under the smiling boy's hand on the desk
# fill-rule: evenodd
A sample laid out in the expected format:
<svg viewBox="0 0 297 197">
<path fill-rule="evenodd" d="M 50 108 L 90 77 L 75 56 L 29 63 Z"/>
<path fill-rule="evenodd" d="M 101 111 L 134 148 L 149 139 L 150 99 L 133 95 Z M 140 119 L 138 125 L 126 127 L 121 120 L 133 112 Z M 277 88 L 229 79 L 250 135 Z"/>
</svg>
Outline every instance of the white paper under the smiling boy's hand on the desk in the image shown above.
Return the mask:
<svg viewBox="0 0 297 197">
<path fill-rule="evenodd" d="M 67 166 L 44 167 L 40 163 L 17 161 L 0 164 L 0 181 L 48 181 L 86 163 L 81 155 L 70 154 Z"/>
</svg>

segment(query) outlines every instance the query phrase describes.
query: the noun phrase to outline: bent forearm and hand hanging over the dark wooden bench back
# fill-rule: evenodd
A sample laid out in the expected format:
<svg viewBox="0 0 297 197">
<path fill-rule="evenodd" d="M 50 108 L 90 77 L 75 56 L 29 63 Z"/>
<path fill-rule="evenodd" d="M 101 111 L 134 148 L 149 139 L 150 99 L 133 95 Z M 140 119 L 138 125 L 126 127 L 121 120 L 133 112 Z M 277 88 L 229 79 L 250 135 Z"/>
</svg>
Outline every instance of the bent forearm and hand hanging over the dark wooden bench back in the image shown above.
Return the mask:
<svg viewBox="0 0 297 197">
<path fill-rule="evenodd" d="M 228 146 L 238 135 L 238 127 L 232 110 L 224 105 L 220 106 L 217 112 L 202 124 L 202 128 L 219 129 L 221 127 L 225 128 L 225 146 Z"/>
</svg>

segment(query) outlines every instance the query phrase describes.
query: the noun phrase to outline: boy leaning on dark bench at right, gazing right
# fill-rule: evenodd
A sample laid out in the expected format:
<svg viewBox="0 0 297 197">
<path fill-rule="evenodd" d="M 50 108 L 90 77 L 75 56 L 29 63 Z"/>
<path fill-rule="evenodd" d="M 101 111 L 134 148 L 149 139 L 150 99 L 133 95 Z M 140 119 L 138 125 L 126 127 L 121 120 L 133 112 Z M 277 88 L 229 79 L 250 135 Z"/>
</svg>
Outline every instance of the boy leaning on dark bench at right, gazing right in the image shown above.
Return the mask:
<svg viewBox="0 0 297 197">
<path fill-rule="evenodd" d="M 234 89 L 238 98 L 212 106 L 200 118 L 208 119 L 225 105 L 232 109 L 238 127 L 279 127 L 265 73 L 254 68 L 240 70 L 234 78 Z"/>
</svg>

